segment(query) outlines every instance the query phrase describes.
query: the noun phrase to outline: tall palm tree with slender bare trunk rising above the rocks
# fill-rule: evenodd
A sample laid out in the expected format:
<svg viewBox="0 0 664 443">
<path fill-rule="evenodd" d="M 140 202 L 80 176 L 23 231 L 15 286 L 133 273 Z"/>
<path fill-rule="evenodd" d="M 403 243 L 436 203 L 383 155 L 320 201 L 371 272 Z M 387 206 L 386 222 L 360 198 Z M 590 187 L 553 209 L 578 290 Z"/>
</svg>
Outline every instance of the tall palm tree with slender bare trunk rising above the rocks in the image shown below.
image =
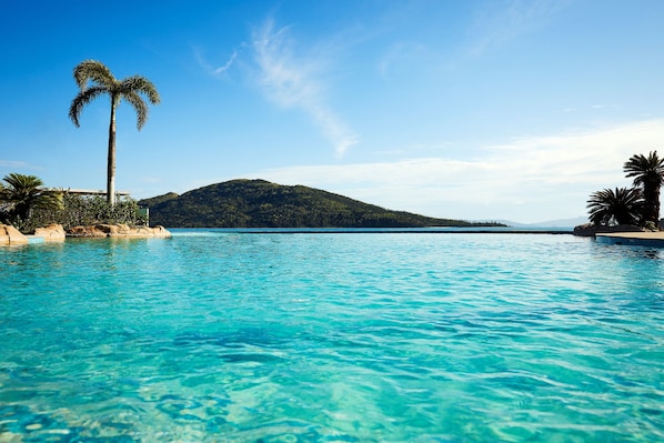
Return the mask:
<svg viewBox="0 0 664 443">
<path fill-rule="evenodd" d="M 85 60 L 73 69 L 73 78 L 80 89 L 71 102 L 69 118 L 73 124 L 80 127 L 79 115 L 92 100 L 102 94 L 111 99 L 111 123 L 109 125 L 109 160 L 107 175 L 107 201 L 115 204 L 115 110 L 122 99 L 127 100 L 137 112 L 139 131 L 148 121 L 148 104 L 141 97 L 144 95 L 152 104 L 160 101 L 159 92 L 152 82 L 141 75 L 132 75 L 122 80 L 115 79 L 111 71 L 97 60 Z M 88 87 L 88 82 L 92 82 Z"/>
</svg>

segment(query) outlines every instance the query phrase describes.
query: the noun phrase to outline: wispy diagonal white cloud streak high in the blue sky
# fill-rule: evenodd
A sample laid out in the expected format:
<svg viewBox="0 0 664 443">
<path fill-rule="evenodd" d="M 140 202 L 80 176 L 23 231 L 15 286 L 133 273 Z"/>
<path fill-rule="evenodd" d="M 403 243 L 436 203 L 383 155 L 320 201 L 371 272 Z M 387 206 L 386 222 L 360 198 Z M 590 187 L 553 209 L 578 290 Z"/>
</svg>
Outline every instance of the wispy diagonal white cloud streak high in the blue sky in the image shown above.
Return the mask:
<svg viewBox="0 0 664 443">
<path fill-rule="evenodd" d="M 266 97 L 283 108 L 308 113 L 334 145 L 339 157 L 358 142 L 358 137 L 340 120 L 325 99 L 324 60 L 295 53 L 290 29 L 275 29 L 268 20 L 253 34 L 252 47 L 259 67 L 259 83 Z"/>
</svg>

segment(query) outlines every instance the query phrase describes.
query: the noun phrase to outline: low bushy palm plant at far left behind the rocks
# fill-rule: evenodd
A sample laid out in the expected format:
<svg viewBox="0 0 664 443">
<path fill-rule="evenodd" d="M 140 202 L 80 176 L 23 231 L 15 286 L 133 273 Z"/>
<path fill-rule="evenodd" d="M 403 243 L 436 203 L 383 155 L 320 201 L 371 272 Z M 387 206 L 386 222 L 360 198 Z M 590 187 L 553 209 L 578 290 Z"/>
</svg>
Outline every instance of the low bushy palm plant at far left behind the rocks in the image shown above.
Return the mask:
<svg viewBox="0 0 664 443">
<path fill-rule="evenodd" d="M 57 211 L 62 207 L 58 194 L 44 191 L 43 182 L 34 175 L 10 173 L 3 180 L 7 187 L 3 187 L 1 198 L 7 205 L 6 219 L 21 231 L 28 230 L 33 210 Z"/>
</svg>

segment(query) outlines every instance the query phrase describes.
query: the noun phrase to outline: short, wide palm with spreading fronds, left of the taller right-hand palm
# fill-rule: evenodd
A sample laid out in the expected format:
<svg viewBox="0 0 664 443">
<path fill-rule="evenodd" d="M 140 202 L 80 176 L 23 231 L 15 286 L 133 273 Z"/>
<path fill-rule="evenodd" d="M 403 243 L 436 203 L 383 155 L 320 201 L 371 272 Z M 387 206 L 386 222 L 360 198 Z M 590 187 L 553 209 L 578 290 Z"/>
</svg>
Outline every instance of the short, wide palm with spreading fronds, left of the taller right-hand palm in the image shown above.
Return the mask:
<svg viewBox="0 0 664 443">
<path fill-rule="evenodd" d="M 638 224 L 643 195 L 638 188 L 605 189 L 587 201 L 590 221 L 595 225 Z"/>
</svg>

